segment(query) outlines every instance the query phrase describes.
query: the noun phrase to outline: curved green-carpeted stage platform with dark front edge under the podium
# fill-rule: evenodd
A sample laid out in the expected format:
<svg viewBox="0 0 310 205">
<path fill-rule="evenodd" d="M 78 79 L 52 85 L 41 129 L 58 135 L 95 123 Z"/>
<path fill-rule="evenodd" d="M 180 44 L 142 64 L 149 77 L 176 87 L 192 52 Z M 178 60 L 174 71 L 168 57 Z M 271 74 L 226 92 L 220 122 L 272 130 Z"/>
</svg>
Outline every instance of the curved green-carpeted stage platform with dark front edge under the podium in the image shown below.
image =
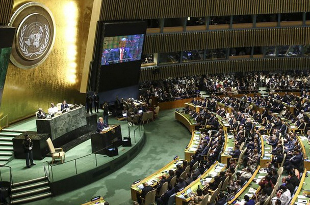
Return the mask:
<svg viewBox="0 0 310 205">
<path fill-rule="evenodd" d="M 98 117 L 102 113 L 97 113 Z M 127 126 L 126 121 L 117 121 L 110 118 L 109 124 L 120 124 L 122 137 L 127 137 L 130 133 L 132 147 L 118 148 L 118 156 L 108 157 L 106 155 L 92 154 L 91 140 L 76 145 L 65 153 L 66 160 L 63 164 L 60 161 L 51 163 L 51 157 L 45 157 L 43 160 L 34 160 L 36 166 L 27 168 L 24 159 L 13 159 L 7 166 L 12 168 L 13 183 L 44 177 L 45 173 L 51 182 L 51 188 L 55 195 L 71 191 L 72 183 L 74 189 L 92 183 L 111 172 L 122 167 L 133 159 L 144 145 L 143 126 Z M 36 131 L 36 119 L 31 118 L 10 126 L 8 129 Z M 136 138 L 136 142 L 135 142 Z M 71 146 L 72 147 L 72 146 Z M 47 163 L 49 162 L 49 163 Z M 45 167 L 45 171 L 44 171 Z M 2 176 L 9 176 L 9 169 L 2 170 Z"/>
</svg>

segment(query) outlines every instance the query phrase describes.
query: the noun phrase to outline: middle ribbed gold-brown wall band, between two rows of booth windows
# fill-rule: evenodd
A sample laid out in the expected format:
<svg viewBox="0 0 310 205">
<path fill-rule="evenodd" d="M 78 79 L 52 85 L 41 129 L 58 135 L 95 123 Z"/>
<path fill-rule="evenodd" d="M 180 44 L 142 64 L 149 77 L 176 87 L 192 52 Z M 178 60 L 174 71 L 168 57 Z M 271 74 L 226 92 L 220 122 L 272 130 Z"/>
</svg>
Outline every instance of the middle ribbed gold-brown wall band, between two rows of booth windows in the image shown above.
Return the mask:
<svg viewBox="0 0 310 205">
<path fill-rule="evenodd" d="M 148 34 L 143 53 L 310 44 L 310 26 Z"/>
</svg>

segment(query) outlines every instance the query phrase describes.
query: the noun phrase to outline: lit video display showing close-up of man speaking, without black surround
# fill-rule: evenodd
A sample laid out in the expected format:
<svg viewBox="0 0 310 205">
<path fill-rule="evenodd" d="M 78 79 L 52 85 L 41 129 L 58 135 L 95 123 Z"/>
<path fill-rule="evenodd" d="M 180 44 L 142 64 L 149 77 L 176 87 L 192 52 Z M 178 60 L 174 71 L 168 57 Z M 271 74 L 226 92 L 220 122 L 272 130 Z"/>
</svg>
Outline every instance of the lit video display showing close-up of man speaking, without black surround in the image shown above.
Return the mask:
<svg viewBox="0 0 310 205">
<path fill-rule="evenodd" d="M 101 65 L 141 60 L 144 34 L 105 37 Z"/>
</svg>

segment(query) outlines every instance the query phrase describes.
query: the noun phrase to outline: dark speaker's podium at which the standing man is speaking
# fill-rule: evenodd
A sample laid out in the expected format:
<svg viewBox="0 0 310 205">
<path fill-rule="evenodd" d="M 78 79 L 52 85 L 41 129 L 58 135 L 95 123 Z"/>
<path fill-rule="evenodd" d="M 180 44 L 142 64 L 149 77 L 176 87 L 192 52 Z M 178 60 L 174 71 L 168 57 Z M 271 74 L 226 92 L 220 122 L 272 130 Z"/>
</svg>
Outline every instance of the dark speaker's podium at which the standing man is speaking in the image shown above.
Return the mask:
<svg viewBox="0 0 310 205">
<path fill-rule="evenodd" d="M 120 125 L 112 125 L 108 130 L 91 134 L 92 153 L 107 155 L 108 149 L 118 148 L 120 145 L 122 145 Z"/>
</svg>

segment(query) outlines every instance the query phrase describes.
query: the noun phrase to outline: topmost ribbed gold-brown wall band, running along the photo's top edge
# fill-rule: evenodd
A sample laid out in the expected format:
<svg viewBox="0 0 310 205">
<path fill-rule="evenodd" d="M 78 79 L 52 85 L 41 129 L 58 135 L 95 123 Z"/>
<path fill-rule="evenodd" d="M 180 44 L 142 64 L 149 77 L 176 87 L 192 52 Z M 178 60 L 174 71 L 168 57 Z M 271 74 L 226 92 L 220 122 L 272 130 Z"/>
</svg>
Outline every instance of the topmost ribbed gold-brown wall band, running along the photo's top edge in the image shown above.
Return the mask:
<svg viewBox="0 0 310 205">
<path fill-rule="evenodd" d="M 310 11 L 309 0 L 102 0 L 100 20 L 277 14 L 307 11 Z"/>
</svg>

